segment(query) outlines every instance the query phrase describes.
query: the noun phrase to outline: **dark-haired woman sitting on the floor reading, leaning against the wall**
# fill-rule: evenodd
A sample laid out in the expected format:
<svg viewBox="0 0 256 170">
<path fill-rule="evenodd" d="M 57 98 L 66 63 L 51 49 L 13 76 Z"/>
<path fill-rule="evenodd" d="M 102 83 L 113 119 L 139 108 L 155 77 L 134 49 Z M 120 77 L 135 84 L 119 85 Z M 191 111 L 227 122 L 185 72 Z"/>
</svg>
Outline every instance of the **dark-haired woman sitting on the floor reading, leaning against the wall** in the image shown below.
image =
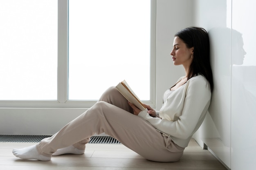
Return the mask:
<svg viewBox="0 0 256 170">
<path fill-rule="evenodd" d="M 171 55 L 173 64 L 183 65 L 186 75 L 164 93 L 159 111 L 148 105 L 148 111 L 141 111 L 111 87 L 99 102 L 55 135 L 34 146 L 13 149 L 13 155 L 48 161 L 52 155 L 83 154 L 90 137 L 105 132 L 148 160 L 178 161 L 211 101 L 207 32 L 190 27 L 176 33 Z"/>
</svg>

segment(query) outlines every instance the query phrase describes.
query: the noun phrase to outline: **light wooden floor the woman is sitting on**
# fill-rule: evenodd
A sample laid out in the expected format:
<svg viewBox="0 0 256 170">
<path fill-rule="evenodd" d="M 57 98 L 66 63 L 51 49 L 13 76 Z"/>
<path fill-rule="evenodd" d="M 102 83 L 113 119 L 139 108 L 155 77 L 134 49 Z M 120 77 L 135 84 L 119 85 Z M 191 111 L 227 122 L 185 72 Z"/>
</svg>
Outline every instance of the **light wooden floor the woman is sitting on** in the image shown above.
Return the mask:
<svg viewBox="0 0 256 170">
<path fill-rule="evenodd" d="M 0 143 L 0 170 L 227 170 L 208 150 L 191 140 L 180 161 L 148 161 L 122 144 L 87 144 L 83 155 L 61 155 L 51 161 L 19 159 L 13 148 L 35 143 Z"/>
</svg>

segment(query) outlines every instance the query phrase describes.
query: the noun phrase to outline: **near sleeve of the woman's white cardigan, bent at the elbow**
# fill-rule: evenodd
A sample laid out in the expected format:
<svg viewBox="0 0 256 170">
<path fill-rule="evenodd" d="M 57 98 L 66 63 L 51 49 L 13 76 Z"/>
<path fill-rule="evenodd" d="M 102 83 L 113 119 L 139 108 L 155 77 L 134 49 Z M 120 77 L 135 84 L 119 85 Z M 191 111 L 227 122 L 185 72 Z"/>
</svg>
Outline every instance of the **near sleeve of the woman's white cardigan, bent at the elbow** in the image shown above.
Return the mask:
<svg viewBox="0 0 256 170">
<path fill-rule="evenodd" d="M 182 91 L 181 101 L 172 101 L 167 104 L 163 114 L 168 113 L 168 107 L 181 105 L 181 115 L 176 121 L 168 119 L 159 119 L 150 117 L 146 111 L 139 113 L 140 117 L 146 119 L 157 130 L 179 139 L 188 139 L 199 128 L 202 120 L 207 113 L 211 101 L 211 91 L 205 79 L 191 79 L 186 82 L 184 91 Z M 160 109 L 161 111 L 161 109 Z M 196 130 L 195 130 L 196 129 Z"/>
</svg>

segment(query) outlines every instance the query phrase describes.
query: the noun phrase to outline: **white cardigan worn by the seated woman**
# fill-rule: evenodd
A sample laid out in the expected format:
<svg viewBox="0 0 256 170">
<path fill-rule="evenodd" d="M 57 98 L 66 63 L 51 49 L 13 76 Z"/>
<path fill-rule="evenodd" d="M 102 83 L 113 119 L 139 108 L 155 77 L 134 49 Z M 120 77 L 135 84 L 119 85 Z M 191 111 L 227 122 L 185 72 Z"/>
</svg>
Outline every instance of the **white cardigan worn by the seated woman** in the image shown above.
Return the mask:
<svg viewBox="0 0 256 170">
<path fill-rule="evenodd" d="M 182 77 L 177 82 L 181 79 Z M 175 144 L 185 148 L 201 126 L 210 102 L 209 82 L 204 76 L 197 75 L 173 91 L 164 101 L 162 108 L 157 111 L 162 119 L 151 117 L 146 110 L 141 111 L 139 116 L 146 119 L 164 136 L 170 136 Z"/>
</svg>

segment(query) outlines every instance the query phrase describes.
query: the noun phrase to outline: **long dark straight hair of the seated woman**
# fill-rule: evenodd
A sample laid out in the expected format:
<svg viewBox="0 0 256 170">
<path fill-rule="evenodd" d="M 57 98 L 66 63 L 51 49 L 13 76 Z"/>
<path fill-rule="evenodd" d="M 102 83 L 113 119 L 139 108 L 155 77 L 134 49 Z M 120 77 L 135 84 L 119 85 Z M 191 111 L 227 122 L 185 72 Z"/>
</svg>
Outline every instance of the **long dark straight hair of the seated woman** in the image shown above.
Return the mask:
<svg viewBox="0 0 256 170">
<path fill-rule="evenodd" d="M 213 91 L 213 75 L 210 63 L 210 42 L 205 29 L 200 27 L 189 27 L 177 32 L 175 36 L 179 37 L 187 48 L 194 47 L 193 60 L 189 66 L 188 80 L 201 74 L 209 82 L 211 91 Z"/>
</svg>

